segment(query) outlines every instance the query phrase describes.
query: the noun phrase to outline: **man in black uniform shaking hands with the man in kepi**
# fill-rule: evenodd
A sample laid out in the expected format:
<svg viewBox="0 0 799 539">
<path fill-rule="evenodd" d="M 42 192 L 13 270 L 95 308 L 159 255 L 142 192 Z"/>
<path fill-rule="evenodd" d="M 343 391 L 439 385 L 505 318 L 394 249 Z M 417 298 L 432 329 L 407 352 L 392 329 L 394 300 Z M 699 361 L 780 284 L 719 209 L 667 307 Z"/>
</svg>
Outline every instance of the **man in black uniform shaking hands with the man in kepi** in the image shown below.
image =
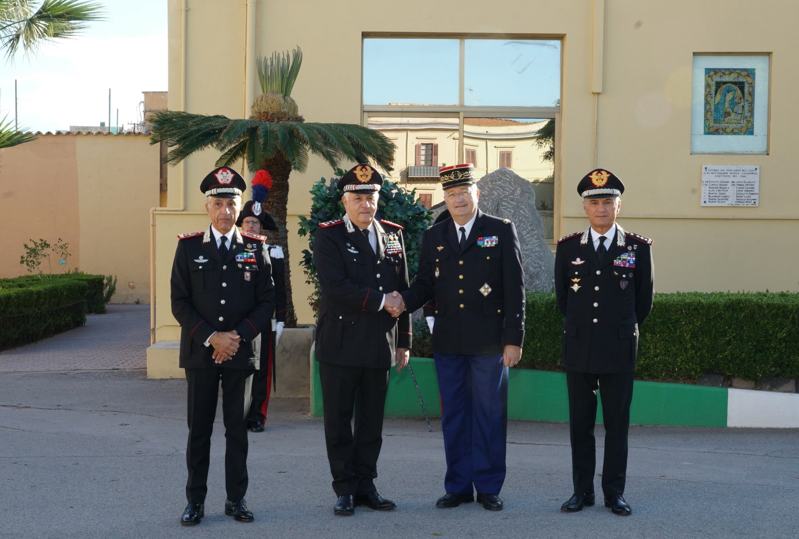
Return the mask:
<svg viewBox="0 0 799 539">
<path fill-rule="evenodd" d="M 374 219 L 383 178 L 358 164 L 338 183 L 344 219 L 320 224 L 312 244 L 321 285 L 316 361 L 324 404 L 324 439 L 338 501 L 333 513 L 355 505 L 394 509 L 377 493 L 377 458 L 383 431 L 388 369 L 407 365 L 411 317 L 384 311 L 407 288 L 402 227 Z M 350 421 L 355 409 L 355 432 Z"/>
</svg>

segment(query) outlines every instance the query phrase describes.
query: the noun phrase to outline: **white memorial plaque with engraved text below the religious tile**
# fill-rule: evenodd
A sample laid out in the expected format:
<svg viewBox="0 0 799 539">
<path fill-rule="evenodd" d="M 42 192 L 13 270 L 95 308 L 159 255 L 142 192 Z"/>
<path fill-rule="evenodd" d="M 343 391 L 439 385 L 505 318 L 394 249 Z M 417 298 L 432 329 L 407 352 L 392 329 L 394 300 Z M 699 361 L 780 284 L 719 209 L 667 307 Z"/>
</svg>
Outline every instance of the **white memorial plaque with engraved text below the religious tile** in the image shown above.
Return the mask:
<svg viewBox="0 0 799 539">
<path fill-rule="evenodd" d="M 759 164 L 703 164 L 702 206 L 757 206 Z"/>
</svg>

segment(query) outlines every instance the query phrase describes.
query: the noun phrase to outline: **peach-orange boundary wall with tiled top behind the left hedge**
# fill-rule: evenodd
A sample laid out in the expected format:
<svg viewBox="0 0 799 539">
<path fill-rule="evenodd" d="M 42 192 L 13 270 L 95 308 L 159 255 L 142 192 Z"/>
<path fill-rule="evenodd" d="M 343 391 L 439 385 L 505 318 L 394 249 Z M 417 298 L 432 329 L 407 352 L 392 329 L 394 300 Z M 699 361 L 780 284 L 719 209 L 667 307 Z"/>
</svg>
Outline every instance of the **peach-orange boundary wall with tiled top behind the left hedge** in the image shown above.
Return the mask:
<svg viewBox="0 0 799 539">
<path fill-rule="evenodd" d="M 148 212 L 159 180 L 149 137 L 42 135 L 0 149 L 0 167 L 0 277 L 26 273 L 22 244 L 60 237 L 70 244 L 64 270 L 117 275 L 113 303 L 149 302 Z"/>
</svg>

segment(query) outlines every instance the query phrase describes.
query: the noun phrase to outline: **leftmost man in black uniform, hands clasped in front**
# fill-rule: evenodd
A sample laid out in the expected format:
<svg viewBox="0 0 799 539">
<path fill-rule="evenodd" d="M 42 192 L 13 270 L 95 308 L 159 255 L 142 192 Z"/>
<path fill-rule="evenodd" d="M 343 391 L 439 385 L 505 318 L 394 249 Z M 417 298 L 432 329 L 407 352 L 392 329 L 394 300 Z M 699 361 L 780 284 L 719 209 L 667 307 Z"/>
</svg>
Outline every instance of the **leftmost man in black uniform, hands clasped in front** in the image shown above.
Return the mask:
<svg viewBox="0 0 799 539">
<path fill-rule="evenodd" d="M 172 313 L 181 324 L 180 366 L 189 386 L 186 505 L 181 524 L 205 516 L 211 432 L 221 381 L 225 419 L 225 514 L 252 521 L 247 491 L 247 411 L 260 334 L 275 311 L 272 266 L 264 236 L 240 234 L 236 224 L 244 178 L 229 167 L 205 176 L 209 228 L 177 236 L 172 266 Z M 249 246 L 249 247 L 248 247 Z"/>
</svg>

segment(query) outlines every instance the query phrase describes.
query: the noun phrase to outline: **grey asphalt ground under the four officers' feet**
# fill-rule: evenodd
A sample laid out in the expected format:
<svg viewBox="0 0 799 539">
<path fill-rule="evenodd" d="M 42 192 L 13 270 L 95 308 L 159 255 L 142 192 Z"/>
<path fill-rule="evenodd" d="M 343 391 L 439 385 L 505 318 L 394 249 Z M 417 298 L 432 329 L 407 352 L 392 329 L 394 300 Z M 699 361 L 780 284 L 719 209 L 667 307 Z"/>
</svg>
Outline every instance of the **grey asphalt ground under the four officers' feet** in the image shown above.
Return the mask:
<svg viewBox="0 0 799 539">
<path fill-rule="evenodd" d="M 0 537 L 193 539 L 708 539 L 799 535 L 799 430 L 633 426 L 626 498 L 564 514 L 566 423 L 511 421 L 506 508 L 435 509 L 445 470 L 439 422 L 387 419 L 376 485 L 399 507 L 335 517 L 323 422 L 308 400 L 270 402 L 249 434 L 252 524 L 225 517 L 225 427 L 211 443 L 205 519 L 184 529 L 186 384 L 144 371 L 0 373 Z M 597 427 L 598 472 L 604 432 Z M 595 478 L 599 489 L 601 478 Z M 601 492 L 601 491 L 600 491 Z"/>
</svg>

